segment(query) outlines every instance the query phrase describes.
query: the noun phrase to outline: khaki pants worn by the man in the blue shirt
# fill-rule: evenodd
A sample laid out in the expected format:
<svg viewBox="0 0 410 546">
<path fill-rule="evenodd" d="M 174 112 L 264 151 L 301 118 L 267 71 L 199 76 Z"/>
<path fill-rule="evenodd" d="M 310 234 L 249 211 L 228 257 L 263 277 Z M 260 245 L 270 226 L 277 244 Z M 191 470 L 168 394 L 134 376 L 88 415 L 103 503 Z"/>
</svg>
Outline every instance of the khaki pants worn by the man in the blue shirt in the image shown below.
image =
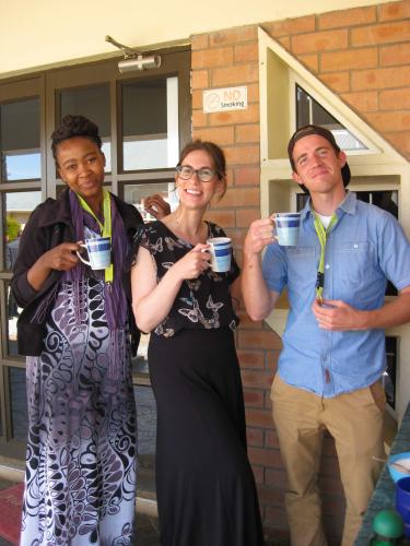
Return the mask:
<svg viewBox="0 0 410 546">
<path fill-rule="evenodd" d="M 347 500 L 342 546 L 352 546 L 380 470 L 372 456 L 385 455 L 382 382 L 325 399 L 291 387 L 277 375 L 271 399 L 289 480 L 285 506 L 292 546 L 327 544 L 318 489 L 325 428 L 335 438 Z"/>
</svg>

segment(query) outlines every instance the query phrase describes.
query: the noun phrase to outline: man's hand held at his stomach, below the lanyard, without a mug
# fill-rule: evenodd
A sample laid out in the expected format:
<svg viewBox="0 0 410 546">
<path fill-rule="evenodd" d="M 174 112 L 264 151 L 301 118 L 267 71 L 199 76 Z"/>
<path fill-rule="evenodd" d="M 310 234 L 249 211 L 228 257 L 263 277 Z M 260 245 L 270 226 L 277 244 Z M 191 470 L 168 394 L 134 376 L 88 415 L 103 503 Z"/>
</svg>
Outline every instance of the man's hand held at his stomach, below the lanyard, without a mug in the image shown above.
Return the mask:
<svg viewBox="0 0 410 546">
<path fill-rule="evenodd" d="M 315 299 L 312 310 L 319 328 L 332 331 L 366 330 L 366 311 L 354 309 L 341 299 Z"/>
</svg>

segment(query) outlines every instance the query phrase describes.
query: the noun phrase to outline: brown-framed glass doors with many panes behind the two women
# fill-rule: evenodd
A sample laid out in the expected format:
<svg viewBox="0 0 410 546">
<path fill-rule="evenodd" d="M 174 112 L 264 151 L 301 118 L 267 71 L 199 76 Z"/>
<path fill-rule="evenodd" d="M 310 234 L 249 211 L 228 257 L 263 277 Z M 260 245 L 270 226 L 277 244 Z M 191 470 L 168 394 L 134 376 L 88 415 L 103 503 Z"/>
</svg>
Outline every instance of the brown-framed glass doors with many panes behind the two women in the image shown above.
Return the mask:
<svg viewBox="0 0 410 546">
<path fill-rule="evenodd" d="M 106 156 L 106 187 L 143 211 L 147 195 L 161 193 L 174 205 L 174 167 L 190 140 L 190 52 L 161 51 L 159 69 L 120 74 L 118 59 L 15 78 L 0 86 L 0 454 L 24 458 L 27 407 L 25 363 L 16 351 L 21 309 L 10 292 L 19 239 L 33 209 L 65 187 L 50 151 L 50 135 L 67 114 L 84 115 L 99 129 Z M 22 130 L 24 128 L 24 130 Z M 132 363 L 140 448 L 150 474 L 156 410 L 147 346 Z M 147 418 L 147 415 L 150 418 Z"/>
</svg>

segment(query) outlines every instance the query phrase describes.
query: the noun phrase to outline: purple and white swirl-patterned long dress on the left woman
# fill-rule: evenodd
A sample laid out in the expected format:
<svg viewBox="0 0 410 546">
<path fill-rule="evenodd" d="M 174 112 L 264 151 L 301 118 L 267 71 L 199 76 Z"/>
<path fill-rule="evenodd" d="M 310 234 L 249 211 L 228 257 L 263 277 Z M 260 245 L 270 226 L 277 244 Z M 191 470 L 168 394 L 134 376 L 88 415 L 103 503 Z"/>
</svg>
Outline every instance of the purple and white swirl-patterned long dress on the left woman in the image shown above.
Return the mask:
<svg viewBox="0 0 410 546">
<path fill-rule="evenodd" d="M 103 281 L 73 284 L 59 285 L 45 348 L 27 358 L 21 545 L 126 546 L 137 480 L 128 334 L 108 329 Z"/>
</svg>

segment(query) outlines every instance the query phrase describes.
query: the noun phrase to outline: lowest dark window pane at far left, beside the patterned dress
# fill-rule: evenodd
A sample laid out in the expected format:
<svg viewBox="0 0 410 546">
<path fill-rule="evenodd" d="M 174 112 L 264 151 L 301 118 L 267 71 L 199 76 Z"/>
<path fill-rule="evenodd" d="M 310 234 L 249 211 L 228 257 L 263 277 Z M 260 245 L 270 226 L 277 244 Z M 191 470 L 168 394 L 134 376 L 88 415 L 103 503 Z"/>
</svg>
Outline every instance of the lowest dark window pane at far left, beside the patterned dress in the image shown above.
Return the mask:
<svg viewBox="0 0 410 546">
<path fill-rule="evenodd" d="M 9 368 L 11 418 L 13 438 L 27 440 L 27 397 L 25 389 L 25 369 Z"/>
</svg>

